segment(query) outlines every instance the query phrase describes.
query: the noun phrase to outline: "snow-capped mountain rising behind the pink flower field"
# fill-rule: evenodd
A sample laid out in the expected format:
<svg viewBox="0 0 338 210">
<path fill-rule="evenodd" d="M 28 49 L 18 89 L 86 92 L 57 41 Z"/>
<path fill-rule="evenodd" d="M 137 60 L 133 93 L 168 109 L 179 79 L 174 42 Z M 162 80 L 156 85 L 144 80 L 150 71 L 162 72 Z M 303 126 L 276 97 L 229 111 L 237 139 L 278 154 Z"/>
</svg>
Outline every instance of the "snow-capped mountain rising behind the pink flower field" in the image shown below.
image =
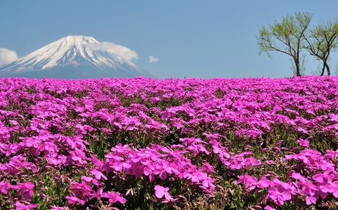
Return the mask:
<svg viewBox="0 0 338 210">
<path fill-rule="evenodd" d="M 154 77 L 140 70 L 93 37 L 68 36 L 54 41 L 8 65 L 0 77 L 84 79 L 101 77 Z"/>
</svg>

